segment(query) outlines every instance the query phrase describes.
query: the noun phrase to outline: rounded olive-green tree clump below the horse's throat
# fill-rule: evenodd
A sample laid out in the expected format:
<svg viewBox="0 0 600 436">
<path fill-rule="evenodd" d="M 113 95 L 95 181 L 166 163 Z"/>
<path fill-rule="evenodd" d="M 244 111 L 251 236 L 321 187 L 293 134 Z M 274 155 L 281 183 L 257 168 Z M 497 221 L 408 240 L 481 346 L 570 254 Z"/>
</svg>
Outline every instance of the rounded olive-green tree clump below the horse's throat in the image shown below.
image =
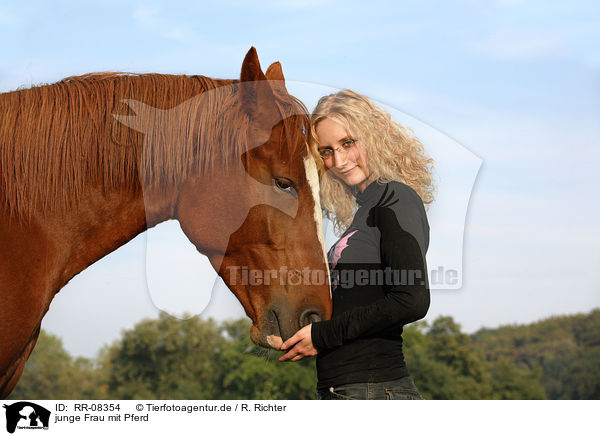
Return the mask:
<svg viewBox="0 0 600 436">
<path fill-rule="evenodd" d="M 212 320 L 144 320 L 104 350 L 107 392 L 133 400 L 214 398 L 225 343 Z"/>
</svg>

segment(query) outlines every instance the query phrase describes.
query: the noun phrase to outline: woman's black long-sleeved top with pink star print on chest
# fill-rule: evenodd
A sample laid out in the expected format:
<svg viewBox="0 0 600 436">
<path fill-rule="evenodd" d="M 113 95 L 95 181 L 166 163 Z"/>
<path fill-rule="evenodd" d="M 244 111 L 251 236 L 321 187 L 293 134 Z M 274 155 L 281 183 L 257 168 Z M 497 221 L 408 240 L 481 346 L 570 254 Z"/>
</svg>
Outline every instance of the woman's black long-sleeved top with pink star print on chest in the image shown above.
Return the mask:
<svg viewBox="0 0 600 436">
<path fill-rule="evenodd" d="M 358 210 L 328 253 L 331 320 L 312 324 L 317 388 L 408 375 L 402 327 L 429 309 L 423 202 L 400 182 L 372 182 L 355 194 Z"/>
</svg>

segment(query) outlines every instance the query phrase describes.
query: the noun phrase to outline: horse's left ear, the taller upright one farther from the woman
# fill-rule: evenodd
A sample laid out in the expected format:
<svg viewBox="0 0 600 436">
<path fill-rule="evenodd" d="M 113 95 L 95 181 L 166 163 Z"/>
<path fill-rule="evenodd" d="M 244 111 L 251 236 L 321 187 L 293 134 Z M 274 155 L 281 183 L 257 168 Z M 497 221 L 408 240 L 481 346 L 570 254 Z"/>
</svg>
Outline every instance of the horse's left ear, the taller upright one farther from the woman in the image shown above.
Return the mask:
<svg viewBox="0 0 600 436">
<path fill-rule="evenodd" d="M 258 54 L 254 47 L 250 47 L 250 50 L 246 53 L 244 62 L 242 62 L 240 82 L 242 110 L 250 118 L 256 118 L 259 108 L 265 103 L 274 101 L 274 99 L 273 93 L 268 89 L 268 85 L 265 86 L 267 78 L 260 68 Z"/>
</svg>

